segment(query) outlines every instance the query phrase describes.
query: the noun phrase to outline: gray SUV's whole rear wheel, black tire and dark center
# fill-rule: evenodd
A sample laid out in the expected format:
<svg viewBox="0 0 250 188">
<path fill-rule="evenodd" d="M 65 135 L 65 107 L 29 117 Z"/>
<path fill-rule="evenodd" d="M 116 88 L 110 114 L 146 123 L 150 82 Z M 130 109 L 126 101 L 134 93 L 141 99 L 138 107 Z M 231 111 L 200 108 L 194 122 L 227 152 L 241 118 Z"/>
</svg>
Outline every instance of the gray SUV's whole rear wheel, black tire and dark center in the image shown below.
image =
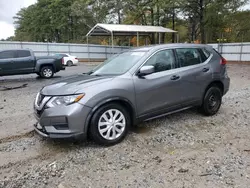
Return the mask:
<svg viewBox="0 0 250 188">
<path fill-rule="evenodd" d="M 206 116 L 213 116 L 217 114 L 221 107 L 222 92 L 217 86 L 210 87 L 203 99 L 201 112 Z"/>
</svg>

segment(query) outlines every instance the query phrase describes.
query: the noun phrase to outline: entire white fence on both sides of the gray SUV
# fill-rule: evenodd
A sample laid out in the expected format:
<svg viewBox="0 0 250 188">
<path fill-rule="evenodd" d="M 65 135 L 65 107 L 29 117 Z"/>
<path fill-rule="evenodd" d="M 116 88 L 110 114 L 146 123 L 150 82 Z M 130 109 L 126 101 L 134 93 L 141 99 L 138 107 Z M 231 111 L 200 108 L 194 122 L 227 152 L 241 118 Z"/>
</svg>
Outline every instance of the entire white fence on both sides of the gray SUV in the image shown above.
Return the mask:
<svg viewBox="0 0 250 188">
<path fill-rule="evenodd" d="M 250 61 L 250 43 L 220 43 L 210 44 L 218 50 L 228 61 Z M 31 49 L 36 56 L 52 55 L 55 53 L 69 53 L 83 59 L 106 59 L 112 54 L 128 49 L 124 46 L 39 43 L 39 42 L 7 42 L 0 41 L 0 50 Z"/>
</svg>

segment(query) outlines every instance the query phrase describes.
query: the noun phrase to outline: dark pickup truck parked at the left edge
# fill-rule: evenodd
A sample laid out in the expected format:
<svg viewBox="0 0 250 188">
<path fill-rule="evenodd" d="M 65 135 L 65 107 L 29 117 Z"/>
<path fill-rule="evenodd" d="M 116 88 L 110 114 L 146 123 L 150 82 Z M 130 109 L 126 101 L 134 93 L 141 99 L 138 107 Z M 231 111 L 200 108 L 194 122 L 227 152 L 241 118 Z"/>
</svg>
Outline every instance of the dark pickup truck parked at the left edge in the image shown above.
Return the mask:
<svg viewBox="0 0 250 188">
<path fill-rule="evenodd" d="M 65 70 L 60 57 L 35 57 L 32 50 L 24 49 L 0 51 L 0 76 L 36 73 L 51 78 L 60 70 Z"/>
</svg>

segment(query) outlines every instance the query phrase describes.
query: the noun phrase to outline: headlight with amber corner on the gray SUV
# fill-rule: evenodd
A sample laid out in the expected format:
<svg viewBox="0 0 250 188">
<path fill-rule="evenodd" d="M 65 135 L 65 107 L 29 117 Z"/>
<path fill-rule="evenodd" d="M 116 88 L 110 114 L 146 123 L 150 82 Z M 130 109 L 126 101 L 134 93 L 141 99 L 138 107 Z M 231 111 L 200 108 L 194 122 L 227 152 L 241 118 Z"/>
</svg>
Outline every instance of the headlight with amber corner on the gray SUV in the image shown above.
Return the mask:
<svg viewBox="0 0 250 188">
<path fill-rule="evenodd" d="M 80 101 L 85 94 L 52 97 L 46 107 L 51 108 L 59 105 L 70 105 Z"/>
</svg>

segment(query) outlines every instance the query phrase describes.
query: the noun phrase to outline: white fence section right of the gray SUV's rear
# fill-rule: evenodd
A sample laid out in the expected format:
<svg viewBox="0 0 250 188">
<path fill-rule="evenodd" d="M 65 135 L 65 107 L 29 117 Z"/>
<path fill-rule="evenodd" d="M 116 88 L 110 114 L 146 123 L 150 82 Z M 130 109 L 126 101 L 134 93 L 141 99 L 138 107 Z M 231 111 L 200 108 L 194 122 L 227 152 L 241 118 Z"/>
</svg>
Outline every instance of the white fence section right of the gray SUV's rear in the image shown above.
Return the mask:
<svg viewBox="0 0 250 188">
<path fill-rule="evenodd" d="M 250 61 L 250 43 L 210 44 L 228 61 Z"/>
</svg>

